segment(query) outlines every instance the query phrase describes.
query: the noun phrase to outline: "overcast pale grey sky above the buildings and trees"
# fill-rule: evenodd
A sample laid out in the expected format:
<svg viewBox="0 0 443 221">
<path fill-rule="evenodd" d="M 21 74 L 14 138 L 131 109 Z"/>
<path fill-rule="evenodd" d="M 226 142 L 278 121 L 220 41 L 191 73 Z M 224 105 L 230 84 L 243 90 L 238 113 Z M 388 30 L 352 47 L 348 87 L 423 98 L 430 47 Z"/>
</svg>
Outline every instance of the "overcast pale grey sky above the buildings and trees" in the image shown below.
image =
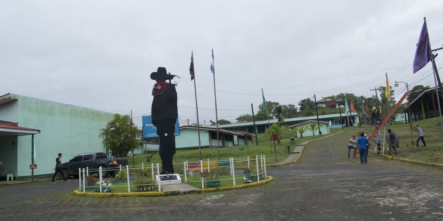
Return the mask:
<svg viewBox="0 0 443 221">
<path fill-rule="evenodd" d="M 150 115 L 150 74 L 175 78 L 181 125 L 234 120 L 267 101 L 297 104 L 339 93 L 372 96 L 395 81 L 435 85 L 429 63 L 412 74 L 426 17 L 443 44 L 442 0 L 1 0 L 0 95 Z M 443 55 L 436 58 L 443 66 Z M 393 88 L 396 99 L 405 85 Z M 206 121 L 206 122 L 205 122 Z"/>
</svg>

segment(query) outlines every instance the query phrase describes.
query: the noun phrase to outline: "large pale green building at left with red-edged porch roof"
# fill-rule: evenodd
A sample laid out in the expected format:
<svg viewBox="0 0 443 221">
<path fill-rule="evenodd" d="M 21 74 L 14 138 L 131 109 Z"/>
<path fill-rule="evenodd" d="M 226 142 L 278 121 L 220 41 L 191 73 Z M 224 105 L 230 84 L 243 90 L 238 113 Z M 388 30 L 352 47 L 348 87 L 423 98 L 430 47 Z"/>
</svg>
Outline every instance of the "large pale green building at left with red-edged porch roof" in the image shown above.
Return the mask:
<svg viewBox="0 0 443 221">
<path fill-rule="evenodd" d="M 77 154 L 105 152 L 99 134 L 112 117 L 109 112 L 17 94 L 0 96 L 0 161 L 5 170 L 0 176 L 31 176 L 32 148 L 34 175 L 52 174 L 58 153 L 64 163 Z"/>
</svg>

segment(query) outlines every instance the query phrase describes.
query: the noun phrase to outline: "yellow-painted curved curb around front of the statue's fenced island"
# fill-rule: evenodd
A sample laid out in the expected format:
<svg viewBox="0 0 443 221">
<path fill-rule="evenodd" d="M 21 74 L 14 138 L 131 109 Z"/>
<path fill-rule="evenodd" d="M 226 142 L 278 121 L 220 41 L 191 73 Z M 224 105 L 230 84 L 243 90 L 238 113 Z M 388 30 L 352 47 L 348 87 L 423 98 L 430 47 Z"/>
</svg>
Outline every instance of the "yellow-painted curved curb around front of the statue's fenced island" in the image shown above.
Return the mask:
<svg viewBox="0 0 443 221">
<path fill-rule="evenodd" d="M 83 193 L 81 191 L 75 190 L 74 195 L 102 198 L 102 197 L 109 197 L 109 196 L 118 196 L 118 197 L 162 196 L 162 195 L 180 195 L 183 193 L 212 193 L 212 192 L 218 192 L 218 191 L 240 190 L 240 189 L 244 189 L 244 188 L 260 186 L 260 185 L 266 184 L 268 182 L 271 182 L 274 179 L 272 176 L 267 176 L 267 177 L 268 177 L 268 179 L 266 179 L 266 180 L 260 180 L 258 182 L 249 183 L 249 184 L 242 184 L 242 185 L 238 185 L 238 186 L 221 187 L 221 188 L 210 188 L 210 189 L 187 191 L 187 192 L 169 191 L 169 192 L 137 192 L 137 193 Z"/>
</svg>

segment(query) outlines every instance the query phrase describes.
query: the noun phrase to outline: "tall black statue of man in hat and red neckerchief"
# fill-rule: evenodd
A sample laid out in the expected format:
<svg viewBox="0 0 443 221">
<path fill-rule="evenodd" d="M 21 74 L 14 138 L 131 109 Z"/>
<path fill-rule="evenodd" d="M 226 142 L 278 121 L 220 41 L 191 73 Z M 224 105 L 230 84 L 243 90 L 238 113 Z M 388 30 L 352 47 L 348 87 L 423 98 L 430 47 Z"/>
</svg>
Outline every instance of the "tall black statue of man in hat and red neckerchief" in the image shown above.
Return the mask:
<svg viewBox="0 0 443 221">
<path fill-rule="evenodd" d="M 152 124 L 157 127 L 160 138 L 159 155 L 161 158 L 161 174 L 174 173 L 172 158 L 175 154 L 175 122 L 177 120 L 177 91 L 175 85 L 167 83 L 175 75 L 167 74 L 166 68 L 158 67 L 157 72 L 151 73 L 151 79 L 156 80 L 152 89 Z"/>
</svg>

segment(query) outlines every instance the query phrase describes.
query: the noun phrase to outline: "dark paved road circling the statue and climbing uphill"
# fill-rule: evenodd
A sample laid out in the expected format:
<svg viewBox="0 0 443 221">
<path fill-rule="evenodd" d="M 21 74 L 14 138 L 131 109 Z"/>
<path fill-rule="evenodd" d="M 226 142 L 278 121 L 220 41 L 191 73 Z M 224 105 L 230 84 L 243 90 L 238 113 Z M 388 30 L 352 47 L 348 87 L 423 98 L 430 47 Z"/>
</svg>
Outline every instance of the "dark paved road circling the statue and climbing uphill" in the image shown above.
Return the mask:
<svg viewBox="0 0 443 221">
<path fill-rule="evenodd" d="M 0 186 L 1 220 L 443 220 L 443 171 L 370 155 L 347 132 L 311 142 L 265 186 L 166 197 L 74 196 L 77 180 Z M 401 151 L 401 149 L 399 149 Z"/>
</svg>

